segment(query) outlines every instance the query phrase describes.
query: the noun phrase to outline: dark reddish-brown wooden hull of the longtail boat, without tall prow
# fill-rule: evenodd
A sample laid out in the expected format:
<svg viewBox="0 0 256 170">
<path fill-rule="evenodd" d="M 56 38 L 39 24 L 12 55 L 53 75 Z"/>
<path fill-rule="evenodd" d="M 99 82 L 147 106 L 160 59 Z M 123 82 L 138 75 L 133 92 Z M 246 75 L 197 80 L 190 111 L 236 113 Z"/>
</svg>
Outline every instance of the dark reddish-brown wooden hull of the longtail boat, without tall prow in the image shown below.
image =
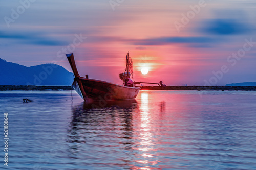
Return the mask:
<svg viewBox="0 0 256 170">
<path fill-rule="evenodd" d="M 126 87 L 114 83 L 109 83 L 101 80 L 87 79 L 79 77 L 78 81 L 81 81 L 86 97 L 84 98 L 81 89 L 77 83 L 77 80 L 73 83 L 73 88 L 84 99 L 92 100 L 124 100 L 134 99 L 139 93 L 139 87 Z"/>
</svg>

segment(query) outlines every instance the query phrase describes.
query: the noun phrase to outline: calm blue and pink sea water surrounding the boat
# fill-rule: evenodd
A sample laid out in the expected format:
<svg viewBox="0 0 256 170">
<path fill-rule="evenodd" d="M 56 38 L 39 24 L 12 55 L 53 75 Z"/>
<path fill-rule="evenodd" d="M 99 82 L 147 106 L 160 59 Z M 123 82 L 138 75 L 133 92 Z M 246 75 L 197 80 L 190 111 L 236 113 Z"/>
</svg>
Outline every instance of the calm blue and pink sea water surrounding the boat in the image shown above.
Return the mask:
<svg viewBox="0 0 256 170">
<path fill-rule="evenodd" d="M 72 96 L 0 91 L 1 169 L 256 169 L 256 92 L 140 91 L 108 104 Z"/>
</svg>

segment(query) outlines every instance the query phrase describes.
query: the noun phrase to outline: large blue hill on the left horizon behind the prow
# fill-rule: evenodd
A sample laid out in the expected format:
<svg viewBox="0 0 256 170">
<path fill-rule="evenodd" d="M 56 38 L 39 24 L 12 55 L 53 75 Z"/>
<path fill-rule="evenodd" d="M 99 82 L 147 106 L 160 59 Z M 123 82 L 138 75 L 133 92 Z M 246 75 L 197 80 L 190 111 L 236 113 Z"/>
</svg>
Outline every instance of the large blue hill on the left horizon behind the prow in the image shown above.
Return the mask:
<svg viewBox="0 0 256 170">
<path fill-rule="evenodd" d="M 56 64 L 26 67 L 0 58 L 0 85 L 71 85 L 73 78 Z"/>
</svg>

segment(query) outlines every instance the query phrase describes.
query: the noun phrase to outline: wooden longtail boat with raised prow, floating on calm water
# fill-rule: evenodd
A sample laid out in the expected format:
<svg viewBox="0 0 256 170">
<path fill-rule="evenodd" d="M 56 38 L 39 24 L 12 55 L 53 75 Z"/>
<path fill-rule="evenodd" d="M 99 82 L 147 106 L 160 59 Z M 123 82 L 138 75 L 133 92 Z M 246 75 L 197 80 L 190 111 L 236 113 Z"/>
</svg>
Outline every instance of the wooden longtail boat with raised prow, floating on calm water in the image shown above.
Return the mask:
<svg viewBox="0 0 256 170">
<path fill-rule="evenodd" d="M 74 82 L 72 87 L 76 90 L 76 92 L 83 98 L 85 101 L 87 100 L 124 100 L 124 99 L 134 99 L 139 93 L 139 87 L 128 87 L 125 85 L 118 85 L 114 83 L 109 83 L 101 80 L 89 79 L 88 76 L 81 77 L 78 74 L 75 59 L 73 53 L 66 54 L 70 66 L 75 75 Z M 131 58 L 129 58 L 129 54 L 126 56 L 126 69 L 124 73 L 120 74 L 120 79 L 123 81 L 125 78 L 130 78 L 129 70 L 132 69 Z M 129 65 L 130 69 L 129 69 Z M 123 83 L 125 84 L 125 83 Z"/>
</svg>

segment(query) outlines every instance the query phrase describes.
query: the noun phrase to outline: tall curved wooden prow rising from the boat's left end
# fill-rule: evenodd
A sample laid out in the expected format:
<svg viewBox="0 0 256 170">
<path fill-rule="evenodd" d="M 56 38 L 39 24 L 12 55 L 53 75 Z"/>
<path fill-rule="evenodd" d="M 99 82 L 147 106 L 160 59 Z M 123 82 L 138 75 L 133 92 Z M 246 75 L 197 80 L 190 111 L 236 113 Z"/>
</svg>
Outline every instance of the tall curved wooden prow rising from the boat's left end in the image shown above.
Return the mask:
<svg viewBox="0 0 256 170">
<path fill-rule="evenodd" d="M 71 54 L 66 54 L 68 60 L 69 60 L 69 64 L 72 68 L 72 71 L 75 75 L 75 79 L 74 79 L 74 82 L 77 82 L 78 86 L 79 86 L 79 89 L 80 89 L 80 92 L 81 92 L 81 95 L 82 95 L 82 98 L 84 100 L 86 100 L 87 98 L 87 95 L 86 95 L 86 92 L 84 91 L 84 88 L 83 88 L 83 85 L 82 85 L 82 82 L 81 80 L 79 79 L 80 78 L 80 75 L 77 71 L 77 68 L 76 68 L 76 63 L 75 63 L 75 59 L 74 59 L 74 55 L 73 53 Z M 74 83 L 73 83 L 74 84 Z M 72 85 L 73 86 L 73 85 Z M 74 87 L 73 87 L 74 88 Z M 77 89 L 75 89 L 77 91 Z M 79 93 L 79 92 L 78 92 Z"/>
</svg>

